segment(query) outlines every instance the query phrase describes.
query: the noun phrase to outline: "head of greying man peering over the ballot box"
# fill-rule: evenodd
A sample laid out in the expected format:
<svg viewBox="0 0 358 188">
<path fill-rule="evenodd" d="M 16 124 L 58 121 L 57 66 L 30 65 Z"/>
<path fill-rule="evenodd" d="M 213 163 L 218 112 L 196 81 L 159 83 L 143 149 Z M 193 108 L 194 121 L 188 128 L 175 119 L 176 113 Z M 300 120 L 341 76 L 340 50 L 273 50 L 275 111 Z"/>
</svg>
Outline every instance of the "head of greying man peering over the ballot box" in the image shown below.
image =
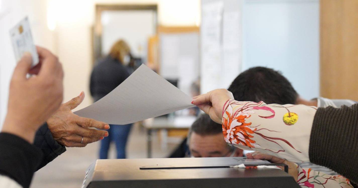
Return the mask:
<svg viewBox="0 0 358 188">
<path fill-rule="evenodd" d="M 223 137 L 221 124 L 202 114 L 193 123 L 188 135 L 188 145 L 193 157 L 242 157 L 243 150 L 229 146 Z"/>
</svg>

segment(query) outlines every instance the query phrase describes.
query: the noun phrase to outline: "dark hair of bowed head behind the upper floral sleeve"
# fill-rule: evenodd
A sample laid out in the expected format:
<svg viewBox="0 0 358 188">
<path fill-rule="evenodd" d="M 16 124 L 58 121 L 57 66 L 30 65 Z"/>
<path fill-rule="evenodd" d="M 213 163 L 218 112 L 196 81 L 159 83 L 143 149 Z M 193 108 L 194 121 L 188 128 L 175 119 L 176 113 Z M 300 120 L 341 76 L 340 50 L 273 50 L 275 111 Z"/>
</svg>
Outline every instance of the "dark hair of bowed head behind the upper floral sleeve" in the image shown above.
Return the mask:
<svg viewBox="0 0 358 188">
<path fill-rule="evenodd" d="M 279 71 L 261 66 L 239 74 L 228 88 L 238 101 L 295 104 L 298 94 Z"/>
</svg>

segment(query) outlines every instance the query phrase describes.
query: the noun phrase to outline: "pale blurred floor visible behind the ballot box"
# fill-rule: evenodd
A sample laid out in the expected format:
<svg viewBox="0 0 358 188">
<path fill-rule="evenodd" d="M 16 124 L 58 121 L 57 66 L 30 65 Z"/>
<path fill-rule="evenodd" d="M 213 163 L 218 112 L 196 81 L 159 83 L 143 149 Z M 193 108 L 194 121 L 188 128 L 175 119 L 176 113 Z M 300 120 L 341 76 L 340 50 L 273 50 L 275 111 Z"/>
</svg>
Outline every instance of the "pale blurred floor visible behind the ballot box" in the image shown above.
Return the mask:
<svg viewBox="0 0 358 188">
<path fill-rule="evenodd" d="M 180 142 L 177 139 L 176 143 L 163 145 L 157 135 L 153 133 L 153 158 L 166 157 Z M 128 158 L 146 158 L 146 138 L 143 128 L 139 125 L 132 127 L 127 145 Z M 110 158 L 115 156 L 113 146 Z M 31 188 L 80 188 L 87 167 L 98 158 L 98 149 L 99 143 L 88 144 L 85 148 L 67 148 L 65 153 L 35 173 Z"/>
</svg>

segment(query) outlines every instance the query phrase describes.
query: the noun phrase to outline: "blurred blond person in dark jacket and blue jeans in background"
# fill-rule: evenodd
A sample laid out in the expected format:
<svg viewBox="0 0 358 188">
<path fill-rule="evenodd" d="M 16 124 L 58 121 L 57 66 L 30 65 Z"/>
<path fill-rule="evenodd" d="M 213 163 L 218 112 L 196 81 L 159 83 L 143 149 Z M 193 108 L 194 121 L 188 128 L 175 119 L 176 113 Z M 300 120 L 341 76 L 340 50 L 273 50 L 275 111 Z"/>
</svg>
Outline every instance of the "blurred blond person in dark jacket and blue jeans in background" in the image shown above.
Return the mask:
<svg viewBox="0 0 358 188">
<path fill-rule="evenodd" d="M 132 73 L 128 66 L 131 60 L 129 45 L 124 40 L 113 44 L 110 53 L 93 68 L 90 90 L 96 101 L 105 97 Z M 117 158 L 126 158 L 126 143 L 132 124 L 110 125 L 109 136 L 101 140 L 100 159 L 108 158 L 110 143 L 116 144 Z"/>
</svg>

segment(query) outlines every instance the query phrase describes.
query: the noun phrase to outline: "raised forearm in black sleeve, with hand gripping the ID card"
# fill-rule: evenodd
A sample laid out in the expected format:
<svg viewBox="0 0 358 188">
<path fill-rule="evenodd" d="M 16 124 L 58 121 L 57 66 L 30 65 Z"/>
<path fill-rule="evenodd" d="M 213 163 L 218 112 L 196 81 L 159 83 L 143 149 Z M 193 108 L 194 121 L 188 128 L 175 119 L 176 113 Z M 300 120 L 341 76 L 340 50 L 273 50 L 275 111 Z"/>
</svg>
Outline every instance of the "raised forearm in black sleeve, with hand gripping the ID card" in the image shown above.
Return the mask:
<svg viewBox="0 0 358 188">
<path fill-rule="evenodd" d="M 25 54 L 10 82 L 8 112 L 0 133 L 0 187 L 28 188 L 42 161 L 33 145 L 37 129 L 60 107 L 63 99 L 61 63 L 48 50 L 37 47 L 40 63 L 31 69 Z M 26 75 L 37 74 L 29 78 Z"/>
</svg>

